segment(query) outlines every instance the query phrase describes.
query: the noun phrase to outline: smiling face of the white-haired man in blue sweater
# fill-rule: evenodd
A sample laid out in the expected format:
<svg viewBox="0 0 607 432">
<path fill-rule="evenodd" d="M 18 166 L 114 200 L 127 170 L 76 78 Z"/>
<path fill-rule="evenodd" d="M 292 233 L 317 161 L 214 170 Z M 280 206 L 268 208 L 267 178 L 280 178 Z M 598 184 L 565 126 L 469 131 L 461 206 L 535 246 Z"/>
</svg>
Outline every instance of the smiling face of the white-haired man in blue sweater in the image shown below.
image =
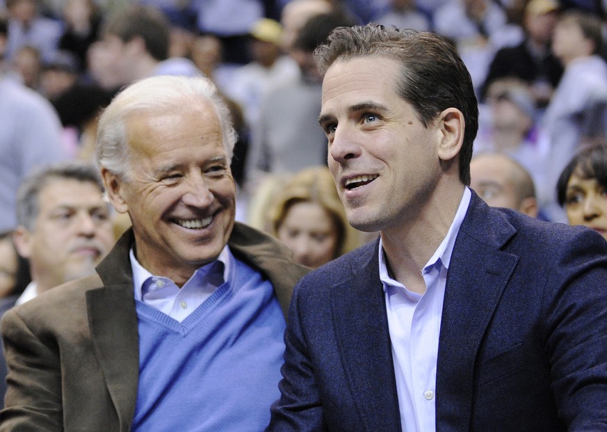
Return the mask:
<svg viewBox="0 0 607 432">
<path fill-rule="evenodd" d="M 211 262 L 234 226 L 235 185 L 216 113 L 209 104 L 183 112 L 131 116 L 129 181 L 106 185 L 133 221 L 136 256 L 148 271 L 186 282 Z"/>
</svg>

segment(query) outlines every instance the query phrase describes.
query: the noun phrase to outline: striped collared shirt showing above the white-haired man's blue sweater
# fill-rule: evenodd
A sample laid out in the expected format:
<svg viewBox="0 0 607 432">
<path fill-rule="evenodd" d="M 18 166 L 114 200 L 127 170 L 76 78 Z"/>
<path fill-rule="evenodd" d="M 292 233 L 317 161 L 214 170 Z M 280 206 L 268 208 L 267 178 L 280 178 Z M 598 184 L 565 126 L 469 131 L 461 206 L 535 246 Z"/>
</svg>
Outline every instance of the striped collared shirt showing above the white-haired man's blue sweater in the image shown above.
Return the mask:
<svg viewBox="0 0 607 432">
<path fill-rule="evenodd" d="M 179 288 L 169 278 L 152 275 L 144 269 L 135 258 L 132 248 L 129 257 L 133 269 L 135 300 L 142 301 L 179 322 L 184 321 L 229 280 L 230 271 L 234 269 L 234 257 L 228 246 L 225 246 L 215 261 L 197 269 L 184 286 Z"/>
</svg>

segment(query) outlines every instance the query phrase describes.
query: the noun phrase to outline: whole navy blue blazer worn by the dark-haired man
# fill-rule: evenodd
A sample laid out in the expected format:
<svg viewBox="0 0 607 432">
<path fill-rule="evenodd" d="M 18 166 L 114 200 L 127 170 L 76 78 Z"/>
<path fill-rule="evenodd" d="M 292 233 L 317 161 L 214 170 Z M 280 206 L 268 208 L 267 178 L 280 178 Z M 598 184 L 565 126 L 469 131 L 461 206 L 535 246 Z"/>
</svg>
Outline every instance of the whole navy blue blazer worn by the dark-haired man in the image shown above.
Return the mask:
<svg viewBox="0 0 607 432">
<path fill-rule="evenodd" d="M 295 288 L 269 431 L 400 431 L 378 241 Z M 473 193 L 448 269 L 437 431 L 607 431 L 607 242 Z"/>
</svg>

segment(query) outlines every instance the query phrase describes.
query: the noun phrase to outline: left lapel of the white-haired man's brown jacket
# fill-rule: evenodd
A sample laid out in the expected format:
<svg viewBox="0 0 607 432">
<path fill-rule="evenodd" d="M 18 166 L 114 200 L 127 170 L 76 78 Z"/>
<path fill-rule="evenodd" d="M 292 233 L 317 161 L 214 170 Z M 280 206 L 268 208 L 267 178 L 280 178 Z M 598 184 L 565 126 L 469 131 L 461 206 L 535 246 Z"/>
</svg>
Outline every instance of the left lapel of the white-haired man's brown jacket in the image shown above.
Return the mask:
<svg viewBox="0 0 607 432">
<path fill-rule="evenodd" d="M 104 287 L 86 293 L 92 343 L 120 419 L 120 431 L 130 430 L 139 378 L 138 323 L 129 261 L 132 243 L 129 230 L 97 266 Z"/>
</svg>

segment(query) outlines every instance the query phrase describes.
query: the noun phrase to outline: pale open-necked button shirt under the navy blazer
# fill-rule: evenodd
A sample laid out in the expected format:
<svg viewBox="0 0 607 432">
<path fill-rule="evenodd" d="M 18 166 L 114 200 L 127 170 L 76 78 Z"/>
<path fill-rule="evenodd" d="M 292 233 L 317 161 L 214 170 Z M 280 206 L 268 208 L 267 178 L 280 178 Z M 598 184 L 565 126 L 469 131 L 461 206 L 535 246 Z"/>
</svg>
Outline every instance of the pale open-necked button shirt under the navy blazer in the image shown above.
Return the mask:
<svg viewBox="0 0 607 432">
<path fill-rule="evenodd" d="M 380 240 L 380 280 L 386 295 L 403 431 L 436 431 L 435 401 L 440 396 L 436 394 L 436 369 L 447 270 L 470 198 L 471 193 L 465 188 L 446 237 L 421 271 L 426 282 L 424 294 L 416 294 L 391 278 Z"/>
</svg>

